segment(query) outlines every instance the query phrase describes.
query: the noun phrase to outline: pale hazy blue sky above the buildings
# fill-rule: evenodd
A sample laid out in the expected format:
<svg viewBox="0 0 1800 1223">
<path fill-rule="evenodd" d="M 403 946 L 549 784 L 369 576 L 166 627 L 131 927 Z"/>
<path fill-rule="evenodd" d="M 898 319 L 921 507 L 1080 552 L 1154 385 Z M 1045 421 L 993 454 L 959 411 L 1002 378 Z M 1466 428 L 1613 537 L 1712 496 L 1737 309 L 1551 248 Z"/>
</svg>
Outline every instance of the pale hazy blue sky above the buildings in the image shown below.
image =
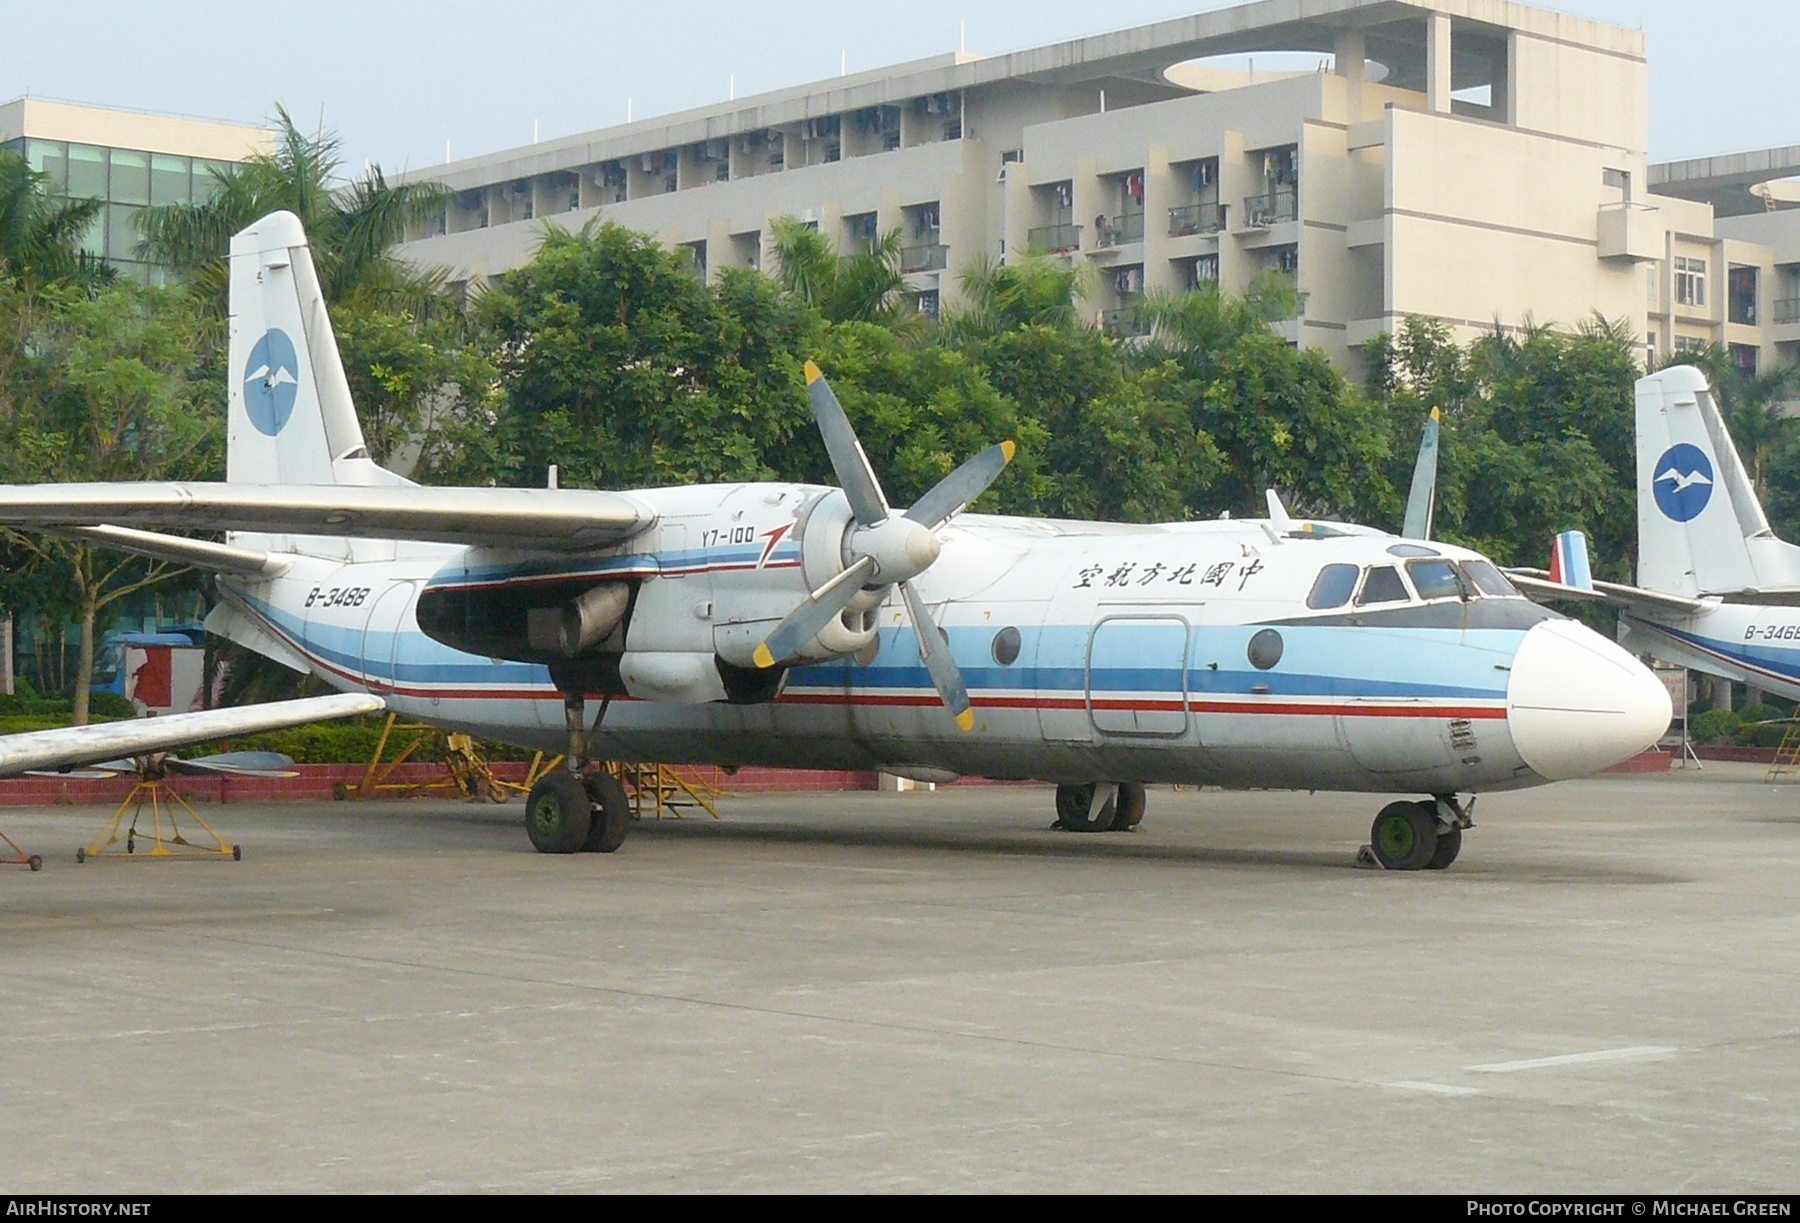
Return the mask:
<svg viewBox="0 0 1800 1223">
<path fill-rule="evenodd" d="M 0 0 L 0 101 L 22 94 L 335 130 L 346 169 L 436 166 L 904 59 L 999 54 L 1220 0 L 607 4 Z M 1800 2 L 1559 0 L 1643 29 L 1651 159 L 1800 144 Z"/>
</svg>

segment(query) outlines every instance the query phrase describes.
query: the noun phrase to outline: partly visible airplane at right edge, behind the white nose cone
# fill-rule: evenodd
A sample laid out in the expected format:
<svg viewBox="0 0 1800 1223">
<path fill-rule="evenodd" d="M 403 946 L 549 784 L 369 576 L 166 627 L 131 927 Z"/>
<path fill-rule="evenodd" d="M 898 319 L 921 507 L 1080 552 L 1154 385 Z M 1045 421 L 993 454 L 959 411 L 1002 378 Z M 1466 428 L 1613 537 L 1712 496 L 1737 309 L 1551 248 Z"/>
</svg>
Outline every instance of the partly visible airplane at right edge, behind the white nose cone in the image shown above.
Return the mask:
<svg viewBox="0 0 1800 1223">
<path fill-rule="evenodd" d="M 1800 548 L 1777 539 L 1706 375 L 1638 378 L 1638 584 L 1597 582 L 1580 531 L 1552 567 L 1510 571 L 1539 598 L 1600 600 L 1618 641 L 1676 666 L 1800 701 Z"/>
</svg>

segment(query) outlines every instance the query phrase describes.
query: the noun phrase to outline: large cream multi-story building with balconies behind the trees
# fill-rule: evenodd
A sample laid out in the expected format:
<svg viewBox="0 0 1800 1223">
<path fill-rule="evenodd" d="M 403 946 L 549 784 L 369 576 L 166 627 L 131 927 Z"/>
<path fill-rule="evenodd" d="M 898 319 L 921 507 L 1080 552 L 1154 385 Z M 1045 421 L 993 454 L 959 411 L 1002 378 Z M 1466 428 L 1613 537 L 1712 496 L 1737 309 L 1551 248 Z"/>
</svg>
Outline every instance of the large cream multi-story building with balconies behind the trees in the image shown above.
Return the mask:
<svg viewBox="0 0 1800 1223">
<path fill-rule="evenodd" d="M 1316 70 L 1258 70 L 1271 52 Z M 603 216 L 713 276 L 767 265 L 792 214 L 841 249 L 900 229 L 925 310 L 981 258 L 1051 250 L 1118 322 L 1145 290 L 1274 270 L 1301 290 L 1285 333 L 1348 360 L 1409 313 L 1645 331 L 1647 144 L 1638 31 L 1505 0 L 1262 0 L 421 169 L 455 196 L 403 250 L 493 277 L 540 225 Z"/>
</svg>

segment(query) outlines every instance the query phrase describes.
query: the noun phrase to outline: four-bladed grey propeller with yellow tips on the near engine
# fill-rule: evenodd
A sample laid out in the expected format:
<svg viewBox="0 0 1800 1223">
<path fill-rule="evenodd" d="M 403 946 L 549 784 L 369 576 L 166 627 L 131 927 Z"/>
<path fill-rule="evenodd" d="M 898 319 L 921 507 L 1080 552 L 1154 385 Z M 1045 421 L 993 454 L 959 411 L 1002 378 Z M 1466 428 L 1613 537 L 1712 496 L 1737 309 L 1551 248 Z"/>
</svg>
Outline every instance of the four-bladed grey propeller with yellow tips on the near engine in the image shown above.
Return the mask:
<svg viewBox="0 0 1800 1223">
<path fill-rule="evenodd" d="M 936 530 L 986 492 L 988 485 L 1006 470 L 1015 447 L 1012 441 L 988 447 L 938 481 L 931 492 L 896 517 L 887 506 L 880 481 L 875 479 L 875 468 L 869 467 L 869 456 L 864 454 L 857 430 L 851 429 L 850 418 L 844 414 L 844 405 L 837 402 L 832 385 L 810 360 L 806 362 L 806 391 L 812 396 L 812 414 L 819 421 L 819 436 L 824 438 L 824 450 L 832 456 L 832 470 L 850 503 L 853 521 L 844 542 L 851 562 L 776 625 L 776 630 L 756 647 L 756 665 L 774 666 L 797 654 L 832 623 L 833 616 L 844 612 L 857 591 L 898 584 L 907 618 L 913 623 L 913 636 L 918 638 L 920 661 L 931 672 L 938 697 L 961 729 L 972 729 L 976 713 L 968 708 L 968 686 L 963 683 L 963 672 L 950 657 L 949 639 L 931 618 L 925 600 L 913 589 L 913 578 L 938 558 L 941 544 Z"/>
</svg>

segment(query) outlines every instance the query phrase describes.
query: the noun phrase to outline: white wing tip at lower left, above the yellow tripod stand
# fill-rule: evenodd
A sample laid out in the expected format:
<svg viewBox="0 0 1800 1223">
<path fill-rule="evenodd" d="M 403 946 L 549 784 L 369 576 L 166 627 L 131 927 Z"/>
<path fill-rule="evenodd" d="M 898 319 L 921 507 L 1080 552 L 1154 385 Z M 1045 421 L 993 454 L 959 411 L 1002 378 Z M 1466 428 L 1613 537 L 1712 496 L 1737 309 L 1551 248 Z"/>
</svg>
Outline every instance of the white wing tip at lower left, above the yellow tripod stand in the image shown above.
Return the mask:
<svg viewBox="0 0 1800 1223">
<path fill-rule="evenodd" d="M 95 764 L 117 756 L 135 756 L 151 751 L 169 751 L 227 735 L 254 735 L 306 722 L 324 722 L 355 713 L 380 713 L 387 702 L 367 693 L 338 693 L 331 697 L 302 697 L 299 701 L 272 701 L 247 704 L 236 710 L 205 710 L 200 713 L 169 713 L 130 722 L 99 722 L 95 726 L 65 726 L 52 731 L 25 731 L 0 735 L 0 776 L 18 776 L 32 769 L 56 769 L 72 764 Z"/>
</svg>

